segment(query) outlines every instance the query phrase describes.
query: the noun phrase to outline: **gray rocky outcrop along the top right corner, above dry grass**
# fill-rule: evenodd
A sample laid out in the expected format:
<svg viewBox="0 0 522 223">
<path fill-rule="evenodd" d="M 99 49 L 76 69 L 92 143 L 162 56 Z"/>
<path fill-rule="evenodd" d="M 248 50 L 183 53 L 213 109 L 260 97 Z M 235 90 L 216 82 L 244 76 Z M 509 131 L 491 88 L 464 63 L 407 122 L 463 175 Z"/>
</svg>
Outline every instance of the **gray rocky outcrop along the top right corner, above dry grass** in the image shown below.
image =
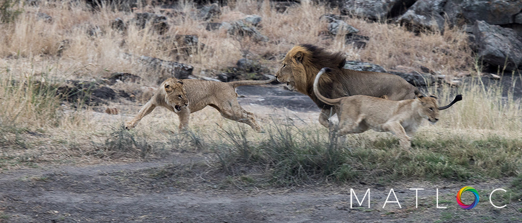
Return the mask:
<svg viewBox="0 0 522 223">
<path fill-rule="evenodd" d="M 522 36 L 520 0 L 346 0 L 341 14 L 397 21 L 415 32 L 424 29 L 444 32 L 446 24 L 472 27 L 470 42 L 481 61 L 493 69 L 522 67 L 519 59 L 522 48 L 519 41 Z M 328 28 L 342 27 L 334 25 L 329 24 Z"/>
</svg>

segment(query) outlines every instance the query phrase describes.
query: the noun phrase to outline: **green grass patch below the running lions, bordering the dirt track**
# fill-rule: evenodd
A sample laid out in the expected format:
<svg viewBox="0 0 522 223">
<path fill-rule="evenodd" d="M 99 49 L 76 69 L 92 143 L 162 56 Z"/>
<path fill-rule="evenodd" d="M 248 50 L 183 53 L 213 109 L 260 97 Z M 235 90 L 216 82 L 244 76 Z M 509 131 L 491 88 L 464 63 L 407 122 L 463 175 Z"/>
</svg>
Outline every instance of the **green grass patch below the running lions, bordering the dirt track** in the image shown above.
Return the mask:
<svg viewBox="0 0 522 223">
<path fill-rule="evenodd" d="M 393 137 L 361 143 L 359 137 L 333 139 L 326 130 L 292 123 L 272 125 L 259 139 L 247 138 L 244 128 L 221 131 L 222 140 L 207 146 L 215 151 L 223 170 L 243 175 L 244 171 L 236 170 L 248 166 L 262 170 L 278 185 L 353 179 L 370 183 L 396 179 L 466 181 L 514 177 L 522 171 L 518 158 L 522 156 L 522 140 L 501 135 L 477 139 L 462 134 L 421 134 L 414 138 L 409 153 Z"/>
</svg>

